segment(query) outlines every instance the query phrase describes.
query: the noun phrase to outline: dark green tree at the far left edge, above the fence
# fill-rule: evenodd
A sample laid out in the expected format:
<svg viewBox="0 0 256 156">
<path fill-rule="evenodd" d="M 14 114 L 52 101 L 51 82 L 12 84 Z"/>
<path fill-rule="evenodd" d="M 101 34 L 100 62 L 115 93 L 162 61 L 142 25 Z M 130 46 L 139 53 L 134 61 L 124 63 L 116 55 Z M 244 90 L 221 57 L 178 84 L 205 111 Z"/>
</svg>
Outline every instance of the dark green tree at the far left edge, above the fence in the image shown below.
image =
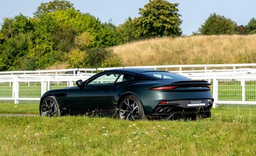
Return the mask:
<svg viewBox="0 0 256 156">
<path fill-rule="evenodd" d="M 33 38 L 31 31 L 33 24 L 22 14 L 4 19 L 0 33 L 0 70 L 22 70 Z"/>
</svg>

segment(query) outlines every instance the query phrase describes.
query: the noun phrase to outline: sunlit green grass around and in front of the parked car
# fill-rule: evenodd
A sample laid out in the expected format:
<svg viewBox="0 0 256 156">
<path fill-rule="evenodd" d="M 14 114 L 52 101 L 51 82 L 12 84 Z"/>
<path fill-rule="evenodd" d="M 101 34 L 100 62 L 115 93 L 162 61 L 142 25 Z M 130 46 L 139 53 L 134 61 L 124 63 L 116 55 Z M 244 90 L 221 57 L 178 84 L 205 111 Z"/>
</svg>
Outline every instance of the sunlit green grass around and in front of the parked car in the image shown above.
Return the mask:
<svg viewBox="0 0 256 156">
<path fill-rule="evenodd" d="M 0 113 L 38 114 L 1 103 Z M 255 155 L 256 107 L 218 105 L 212 118 L 129 122 L 111 118 L 0 116 L 1 155 Z"/>
</svg>

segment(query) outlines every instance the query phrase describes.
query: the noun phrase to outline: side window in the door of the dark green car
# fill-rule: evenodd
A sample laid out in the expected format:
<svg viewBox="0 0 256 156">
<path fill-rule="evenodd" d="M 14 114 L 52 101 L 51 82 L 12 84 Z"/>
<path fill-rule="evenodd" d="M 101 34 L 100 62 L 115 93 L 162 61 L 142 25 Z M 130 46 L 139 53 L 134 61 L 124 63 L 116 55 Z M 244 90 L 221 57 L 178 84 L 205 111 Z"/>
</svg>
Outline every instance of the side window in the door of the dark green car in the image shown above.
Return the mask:
<svg viewBox="0 0 256 156">
<path fill-rule="evenodd" d="M 115 80 L 120 77 L 120 74 L 116 73 L 109 73 L 109 74 L 103 74 L 102 76 L 99 76 L 98 78 L 95 78 L 91 82 L 89 82 L 87 85 L 110 85 L 114 84 Z"/>
</svg>

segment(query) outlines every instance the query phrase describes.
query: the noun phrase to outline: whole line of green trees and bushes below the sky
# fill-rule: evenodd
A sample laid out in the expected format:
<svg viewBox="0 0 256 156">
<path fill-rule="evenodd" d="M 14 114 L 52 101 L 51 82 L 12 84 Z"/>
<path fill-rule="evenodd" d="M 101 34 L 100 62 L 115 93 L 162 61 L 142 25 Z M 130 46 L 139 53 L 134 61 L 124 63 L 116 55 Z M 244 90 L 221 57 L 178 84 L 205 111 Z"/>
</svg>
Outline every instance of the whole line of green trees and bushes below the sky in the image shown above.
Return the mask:
<svg viewBox="0 0 256 156">
<path fill-rule="evenodd" d="M 182 36 L 179 3 L 149 0 L 138 18 L 115 26 L 81 13 L 69 1 L 41 3 L 33 14 L 5 18 L 0 30 L 0 71 L 39 70 L 67 62 L 69 68 L 122 66 L 110 47 L 147 38 Z M 194 34 L 255 34 L 256 20 L 246 26 L 211 14 Z"/>
</svg>

